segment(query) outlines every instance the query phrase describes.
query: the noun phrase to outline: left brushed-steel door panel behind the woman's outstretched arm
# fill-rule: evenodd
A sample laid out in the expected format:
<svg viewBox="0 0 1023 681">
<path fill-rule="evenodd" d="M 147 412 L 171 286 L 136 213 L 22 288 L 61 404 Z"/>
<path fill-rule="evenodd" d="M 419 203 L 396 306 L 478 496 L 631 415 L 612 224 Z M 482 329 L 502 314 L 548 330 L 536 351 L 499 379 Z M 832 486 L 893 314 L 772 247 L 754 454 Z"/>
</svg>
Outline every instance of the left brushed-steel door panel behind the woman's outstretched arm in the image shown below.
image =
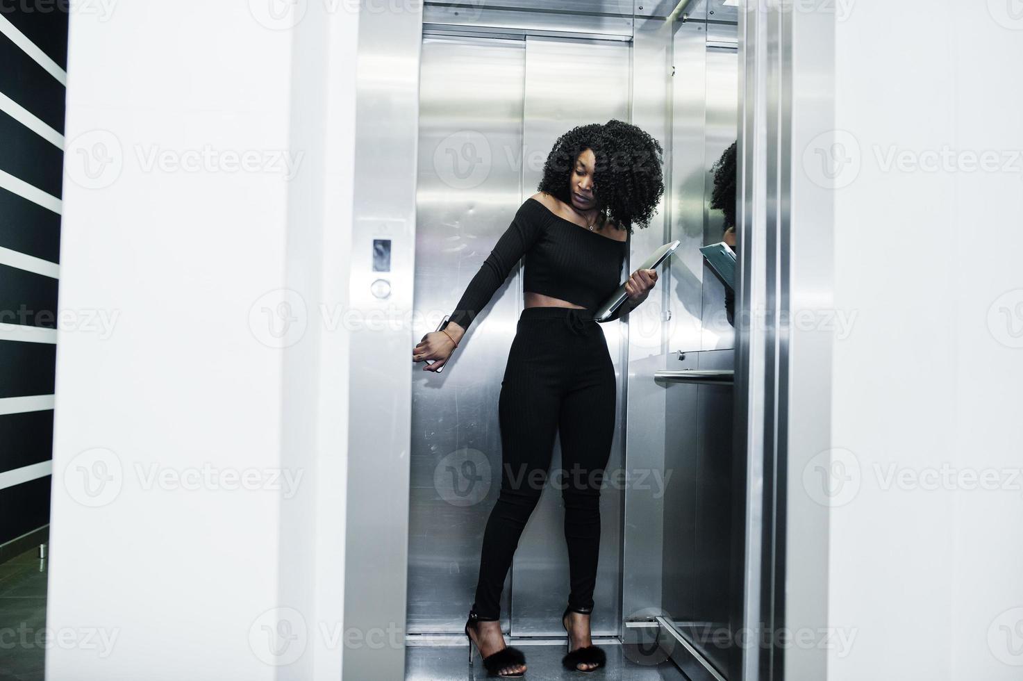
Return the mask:
<svg viewBox="0 0 1023 681">
<path fill-rule="evenodd" d="M 522 199 L 522 41 L 426 37 L 419 89 L 415 309 L 434 331 Z M 459 632 L 500 484 L 497 396 L 515 335 L 513 272 L 441 374 L 412 383 L 408 632 Z M 506 615 L 507 589 L 502 612 Z"/>
</svg>

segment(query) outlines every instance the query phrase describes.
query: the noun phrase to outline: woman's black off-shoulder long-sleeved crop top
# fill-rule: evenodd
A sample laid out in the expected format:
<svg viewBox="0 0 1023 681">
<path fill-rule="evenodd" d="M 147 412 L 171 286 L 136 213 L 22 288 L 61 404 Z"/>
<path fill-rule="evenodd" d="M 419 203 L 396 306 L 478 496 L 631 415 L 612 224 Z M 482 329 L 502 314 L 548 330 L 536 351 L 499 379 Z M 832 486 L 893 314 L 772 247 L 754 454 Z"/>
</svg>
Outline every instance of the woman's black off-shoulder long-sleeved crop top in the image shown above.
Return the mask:
<svg viewBox="0 0 1023 681">
<path fill-rule="evenodd" d="M 627 250 L 627 242 L 590 231 L 536 199 L 527 199 L 470 282 L 449 322 L 468 330 L 523 256 L 523 291 L 595 311 L 621 284 Z M 611 318 L 618 318 L 625 307 Z"/>
</svg>

